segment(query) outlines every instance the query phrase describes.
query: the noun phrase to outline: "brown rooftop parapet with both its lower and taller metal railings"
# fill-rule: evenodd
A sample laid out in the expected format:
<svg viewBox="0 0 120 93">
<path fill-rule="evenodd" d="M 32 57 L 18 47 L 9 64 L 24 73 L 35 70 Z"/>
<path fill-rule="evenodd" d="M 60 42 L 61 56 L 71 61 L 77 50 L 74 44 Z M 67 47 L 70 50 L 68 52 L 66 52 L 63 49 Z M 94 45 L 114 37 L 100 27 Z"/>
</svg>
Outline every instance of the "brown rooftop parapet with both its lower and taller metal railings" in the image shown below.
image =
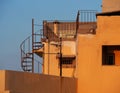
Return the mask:
<svg viewBox="0 0 120 93">
<path fill-rule="evenodd" d="M 82 31 L 82 29 L 83 31 Z M 74 21 L 43 21 L 43 34 L 50 41 L 74 39 L 77 33 L 89 33 L 96 28 L 96 11 L 80 10 Z M 79 31 L 80 30 L 80 31 Z"/>
</svg>

